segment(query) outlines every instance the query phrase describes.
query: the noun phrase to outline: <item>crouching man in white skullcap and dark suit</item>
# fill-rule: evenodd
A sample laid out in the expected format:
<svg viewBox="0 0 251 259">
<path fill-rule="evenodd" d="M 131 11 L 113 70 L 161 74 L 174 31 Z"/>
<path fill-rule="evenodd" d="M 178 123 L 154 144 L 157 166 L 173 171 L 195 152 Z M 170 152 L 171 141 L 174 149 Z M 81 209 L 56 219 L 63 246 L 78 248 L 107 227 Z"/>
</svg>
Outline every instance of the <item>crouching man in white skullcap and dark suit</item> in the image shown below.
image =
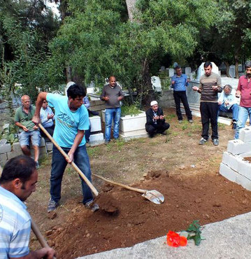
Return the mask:
<svg viewBox="0 0 251 259">
<path fill-rule="evenodd" d="M 150 103 L 150 108 L 145 112 L 146 114 L 146 123 L 145 130 L 148 132 L 149 137 L 152 138 L 155 134 L 166 135 L 165 131 L 168 130 L 170 125 L 165 123 L 165 116 L 163 111 L 159 108 L 156 101 Z"/>
</svg>

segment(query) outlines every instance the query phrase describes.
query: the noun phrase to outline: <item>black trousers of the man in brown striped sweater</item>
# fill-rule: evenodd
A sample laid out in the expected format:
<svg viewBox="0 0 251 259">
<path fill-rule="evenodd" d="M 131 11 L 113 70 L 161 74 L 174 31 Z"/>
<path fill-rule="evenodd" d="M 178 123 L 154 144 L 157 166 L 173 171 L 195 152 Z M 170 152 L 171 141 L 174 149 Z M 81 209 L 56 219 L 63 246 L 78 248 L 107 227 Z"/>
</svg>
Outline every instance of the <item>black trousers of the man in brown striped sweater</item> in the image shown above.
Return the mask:
<svg viewBox="0 0 251 259">
<path fill-rule="evenodd" d="M 217 114 L 218 114 L 218 103 L 217 102 L 201 102 L 201 123 L 202 123 L 202 134 L 201 137 L 208 139 L 209 122 L 212 127 L 212 139 L 218 139 L 218 125 L 217 125 Z"/>
</svg>

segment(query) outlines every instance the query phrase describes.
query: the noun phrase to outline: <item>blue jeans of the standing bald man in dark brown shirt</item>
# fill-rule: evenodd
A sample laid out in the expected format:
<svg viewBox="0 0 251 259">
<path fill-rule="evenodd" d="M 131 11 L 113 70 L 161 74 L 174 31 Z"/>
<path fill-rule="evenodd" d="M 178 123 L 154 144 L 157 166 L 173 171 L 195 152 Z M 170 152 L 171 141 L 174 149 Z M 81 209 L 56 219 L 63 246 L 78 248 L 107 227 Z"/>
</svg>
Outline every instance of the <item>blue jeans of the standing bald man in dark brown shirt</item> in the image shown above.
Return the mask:
<svg viewBox="0 0 251 259">
<path fill-rule="evenodd" d="M 105 137 L 107 141 L 110 141 L 110 130 L 112 128 L 113 123 L 113 137 L 117 139 L 119 137 L 119 130 L 120 130 L 120 114 L 121 109 L 106 109 L 106 132 Z"/>
</svg>

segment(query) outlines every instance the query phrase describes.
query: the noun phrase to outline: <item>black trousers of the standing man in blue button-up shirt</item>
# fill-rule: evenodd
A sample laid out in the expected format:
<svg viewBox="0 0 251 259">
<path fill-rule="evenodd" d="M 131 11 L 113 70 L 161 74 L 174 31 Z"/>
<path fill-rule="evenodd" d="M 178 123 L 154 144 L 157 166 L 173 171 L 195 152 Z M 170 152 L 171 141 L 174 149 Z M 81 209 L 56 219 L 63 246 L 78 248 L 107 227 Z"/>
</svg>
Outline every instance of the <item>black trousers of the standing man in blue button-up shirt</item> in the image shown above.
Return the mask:
<svg viewBox="0 0 251 259">
<path fill-rule="evenodd" d="M 182 120 L 182 113 L 180 111 L 180 101 L 182 102 L 185 113 L 187 116 L 187 120 L 192 120 L 192 112 L 189 108 L 189 104 L 187 102 L 187 94 L 186 91 L 173 91 L 173 98 L 175 102 L 176 114 L 178 116 L 178 120 Z"/>
</svg>

